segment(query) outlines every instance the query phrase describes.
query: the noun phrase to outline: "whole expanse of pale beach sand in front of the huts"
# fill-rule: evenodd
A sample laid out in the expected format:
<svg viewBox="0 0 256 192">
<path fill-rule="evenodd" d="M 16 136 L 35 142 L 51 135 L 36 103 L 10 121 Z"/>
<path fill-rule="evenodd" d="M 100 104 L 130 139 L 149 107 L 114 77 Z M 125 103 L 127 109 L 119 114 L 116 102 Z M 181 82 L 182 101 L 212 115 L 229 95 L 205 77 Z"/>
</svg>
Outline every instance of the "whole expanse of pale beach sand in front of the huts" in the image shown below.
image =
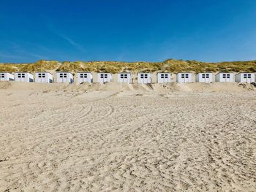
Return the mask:
<svg viewBox="0 0 256 192">
<path fill-rule="evenodd" d="M 256 191 L 256 91 L 0 82 L 0 191 Z"/>
</svg>

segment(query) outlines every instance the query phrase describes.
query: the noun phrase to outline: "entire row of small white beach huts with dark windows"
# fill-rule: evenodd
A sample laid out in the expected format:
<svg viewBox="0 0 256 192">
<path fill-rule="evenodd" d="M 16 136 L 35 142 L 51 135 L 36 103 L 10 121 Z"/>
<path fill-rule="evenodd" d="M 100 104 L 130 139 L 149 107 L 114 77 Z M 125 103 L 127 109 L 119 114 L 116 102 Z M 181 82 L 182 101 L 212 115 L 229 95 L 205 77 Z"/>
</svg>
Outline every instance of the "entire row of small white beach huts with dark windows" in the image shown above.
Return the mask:
<svg viewBox="0 0 256 192">
<path fill-rule="evenodd" d="M 35 77 L 34 77 L 35 76 Z M 137 74 L 138 83 L 151 83 L 151 73 L 139 72 Z M 233 73 L 220 72 L 215 75 L 216 82 L 233 82 Z M 82 82 L 94 82 L 93 74 L 91 72 L 78 72 L 76 74 L 78 83 Z M 195 75 L 195 82 L 213 82 L 213 73 L 197 73 Z M 34 75 L 28 72 L 15 72 L 10 74 L 8 72 L 0 72 L 0 81 L 12 81 L 17 82 L 53 82 L 53 74 L 50 72 L 35 72 Z M 97 82 L 112 82 L 112 74 L 110 73 L 97 73 Z M 236 82 L 255 82 L 254 73 L 238 73 L 235 75 Z M 74 77 L 71 72 L 56 72 L 56 82 L 74 82 Z M 117 82 L 133 82 L 132 76 L 128 72 L 121 72 L 117 74 Z M 171 82 L 171 73 L 160 72 L 157 73 L 157 82 L 166 83 Z M 176 82 L 193 82 L 192 73 L 181 72 L 176 74 Z"/>
</svg>

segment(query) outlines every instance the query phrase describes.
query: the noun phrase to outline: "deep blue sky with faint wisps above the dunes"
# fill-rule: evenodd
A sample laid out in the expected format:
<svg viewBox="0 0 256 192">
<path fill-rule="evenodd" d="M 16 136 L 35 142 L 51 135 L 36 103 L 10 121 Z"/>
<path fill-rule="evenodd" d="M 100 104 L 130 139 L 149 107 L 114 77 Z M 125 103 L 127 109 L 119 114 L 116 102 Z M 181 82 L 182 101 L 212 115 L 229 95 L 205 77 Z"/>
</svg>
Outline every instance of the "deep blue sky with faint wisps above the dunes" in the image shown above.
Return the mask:
<svg viewBox="0 0 256 192">
<path fill-rule="evenodd" d="M 256 59 L 255 0 L 1 0 L 0 62 Z"/>
</svg>

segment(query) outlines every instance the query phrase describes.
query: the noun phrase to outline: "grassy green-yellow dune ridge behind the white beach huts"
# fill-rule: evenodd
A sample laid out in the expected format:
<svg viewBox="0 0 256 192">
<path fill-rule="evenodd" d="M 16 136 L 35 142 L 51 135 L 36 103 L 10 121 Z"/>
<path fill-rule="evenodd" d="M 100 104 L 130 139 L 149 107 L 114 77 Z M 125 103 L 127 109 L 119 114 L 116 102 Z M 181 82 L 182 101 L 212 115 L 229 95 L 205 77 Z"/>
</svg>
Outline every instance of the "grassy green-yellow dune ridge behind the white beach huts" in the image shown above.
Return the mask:
<svg viewBox="0 0 256 192">
<path fill-rule="evenodd" d="M 256 61 L 206 63 L 168 59 L 163 62 L 43 61 L 34 64 L 0 64 L 0 72 L 256 72 Z"/>
</svg>

